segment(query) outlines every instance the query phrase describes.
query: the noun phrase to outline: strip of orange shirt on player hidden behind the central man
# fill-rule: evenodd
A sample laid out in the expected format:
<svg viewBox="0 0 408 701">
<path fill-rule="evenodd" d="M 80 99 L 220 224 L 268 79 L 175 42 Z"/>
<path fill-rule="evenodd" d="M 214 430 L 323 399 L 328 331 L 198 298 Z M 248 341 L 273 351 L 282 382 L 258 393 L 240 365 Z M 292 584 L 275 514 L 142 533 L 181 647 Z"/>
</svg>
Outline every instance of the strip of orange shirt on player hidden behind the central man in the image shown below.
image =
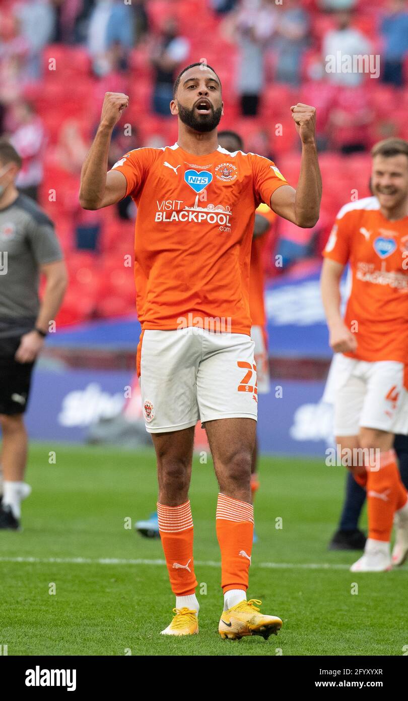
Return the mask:
<svg viewBox="0 0 408 701">
<path fill-rule="evenodd" d="M 255 214 L 262 215 L 262 217 L 268 219 L 271 226 L 276 221 L 275 212 L 265 203 L 259 205 Z M 262 236 L 254 236 L 252 240 L 251 267 L 249 269 L 249 311 L 253 326 L 265 326 L 266 324 L 264 299 L 265 264 L 263 256 L 265 246 L 268 243 L 269 231 L 270 226 Z"/>
</svg>

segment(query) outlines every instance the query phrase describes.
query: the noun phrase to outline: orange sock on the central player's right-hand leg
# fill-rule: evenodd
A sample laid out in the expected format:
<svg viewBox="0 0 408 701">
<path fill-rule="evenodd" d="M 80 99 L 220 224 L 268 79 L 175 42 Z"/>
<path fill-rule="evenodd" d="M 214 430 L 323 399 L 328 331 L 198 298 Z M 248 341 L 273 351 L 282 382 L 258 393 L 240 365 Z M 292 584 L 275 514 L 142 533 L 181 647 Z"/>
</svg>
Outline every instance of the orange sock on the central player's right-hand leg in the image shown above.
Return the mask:
<svg viewBox="0 0 408 701">
<path fill-rule="evenodd" d="M 253 543 L 253 505 L 218 494 L 216 531 L 221 551 L 223 592 L 248 589 Z"/>
</svg>

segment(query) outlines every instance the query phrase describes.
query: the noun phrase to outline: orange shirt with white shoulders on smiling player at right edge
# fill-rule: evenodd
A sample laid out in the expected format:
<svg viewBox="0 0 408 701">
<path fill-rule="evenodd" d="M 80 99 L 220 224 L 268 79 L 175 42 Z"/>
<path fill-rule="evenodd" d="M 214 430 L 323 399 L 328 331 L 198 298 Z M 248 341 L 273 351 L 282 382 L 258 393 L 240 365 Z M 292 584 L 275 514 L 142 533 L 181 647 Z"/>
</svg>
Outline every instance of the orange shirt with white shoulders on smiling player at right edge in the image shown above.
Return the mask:
<svg viewBox="0 0 408 701">
<path fill-rule="evenodd" d="M 344 322 L 357 326 L 359 360 L 408 362 L 408 217 L 390 222 L 376 197 L 344 205 L 323 255 L 348 262 L 352 286 Z M 354 323 L 353 323 L 354 322 Z"/>
</svg>

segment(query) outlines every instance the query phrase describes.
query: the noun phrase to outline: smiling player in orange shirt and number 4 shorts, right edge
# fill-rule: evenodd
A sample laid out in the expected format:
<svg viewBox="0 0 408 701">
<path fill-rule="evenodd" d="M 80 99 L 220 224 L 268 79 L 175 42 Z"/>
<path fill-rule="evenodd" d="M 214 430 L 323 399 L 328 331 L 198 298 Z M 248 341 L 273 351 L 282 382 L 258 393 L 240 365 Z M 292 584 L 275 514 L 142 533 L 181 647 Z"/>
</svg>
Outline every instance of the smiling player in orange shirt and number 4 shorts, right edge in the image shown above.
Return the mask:
<svg viewBox="0 0 408 701">
<path fill-rule="evenodd" d="M 342 354 L 335 365 L 336 442 L 376 451 L 375 461 L 353 457 L 349 465 L 367 491 L 368 538 L 351 567 L 363 572 L 386 571 L 408 554 L 407 489 L 393 449 L 395 434 L 408 433 L 408 142 L 385 139 L 372 156 L 374 196 L 340 210 L 321 276 L 330 346 Z M 347 263 L 353 283 L 342 320 L 339 282 Z"/>
</svg>

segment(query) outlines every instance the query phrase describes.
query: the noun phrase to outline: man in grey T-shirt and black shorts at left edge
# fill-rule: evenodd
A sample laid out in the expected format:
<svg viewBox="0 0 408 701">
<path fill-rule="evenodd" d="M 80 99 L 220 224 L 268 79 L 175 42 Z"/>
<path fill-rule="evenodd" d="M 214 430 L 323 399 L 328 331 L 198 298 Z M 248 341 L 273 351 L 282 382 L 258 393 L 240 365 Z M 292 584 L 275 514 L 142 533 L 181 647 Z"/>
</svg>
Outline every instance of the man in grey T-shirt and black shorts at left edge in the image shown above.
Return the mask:
<svg viewBox="0 0 408 701">
<path fill-rule="evenodd" d="M 0 140 L 0 425 L 3 492 L 0 529 L 20 528 L 27 462 L 27 408 L 31 373 L 66 289 L 66 270 L 54 226 L 15 180 L 21 158 Z M 46 278 L 41 304 L 39 276 Z"/>
</svg>

